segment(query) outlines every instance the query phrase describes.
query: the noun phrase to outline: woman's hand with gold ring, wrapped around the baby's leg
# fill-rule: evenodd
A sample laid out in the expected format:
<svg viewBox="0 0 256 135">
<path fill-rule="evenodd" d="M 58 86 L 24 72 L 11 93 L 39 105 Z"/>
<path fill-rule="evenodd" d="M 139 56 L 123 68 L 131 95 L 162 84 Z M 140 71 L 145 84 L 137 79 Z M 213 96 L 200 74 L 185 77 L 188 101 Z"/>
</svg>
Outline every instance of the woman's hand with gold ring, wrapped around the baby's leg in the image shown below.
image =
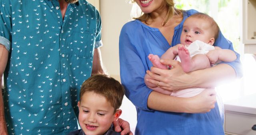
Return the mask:
<svg viewBox="0 0 256 135">
<path fill-rule="evenodd" d="M 157 84 L 160 81 L 159 86 L 170 91 L 192 87 L 192 79 L 188 73 L 182 70 L 180 62 L 168 59 L 160 60 L 160 62 L 164 65 L 172 65 L 173 68 L 167 70 L 151 67 L 151 71 L 147 71 L 147 74 L 151 77 L 148 82 Z"/>
</svg>

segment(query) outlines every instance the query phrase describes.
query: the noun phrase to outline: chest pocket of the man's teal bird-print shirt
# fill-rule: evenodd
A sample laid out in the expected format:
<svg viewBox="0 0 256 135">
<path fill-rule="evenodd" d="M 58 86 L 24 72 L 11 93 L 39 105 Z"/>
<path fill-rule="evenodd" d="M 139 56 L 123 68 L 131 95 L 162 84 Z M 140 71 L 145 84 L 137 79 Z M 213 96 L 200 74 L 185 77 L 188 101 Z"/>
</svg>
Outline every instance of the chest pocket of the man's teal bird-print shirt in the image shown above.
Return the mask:
<svg viewBox="0 0 256 135">
<path fill-rule="evenodd" d="M 80 30 L 74 32 L 74 42 L 72 44 L 75 56 L 82 58 L 92 58 L 95 47 L 95 30 Z"/>
</svg>

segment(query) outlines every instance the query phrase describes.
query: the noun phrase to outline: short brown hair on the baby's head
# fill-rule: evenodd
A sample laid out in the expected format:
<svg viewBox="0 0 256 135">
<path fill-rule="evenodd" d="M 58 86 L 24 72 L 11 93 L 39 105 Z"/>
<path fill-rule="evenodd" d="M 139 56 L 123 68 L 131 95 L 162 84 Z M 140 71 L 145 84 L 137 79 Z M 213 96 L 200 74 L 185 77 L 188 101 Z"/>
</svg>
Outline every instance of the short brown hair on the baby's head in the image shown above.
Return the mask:
<svg viewBox="0 0 256 135">
<path fill-rule="evenodd" d="M 200 12 L 198 12 L 196 14 L 192 14 L 189 17 L 204 19 L 204 20 L 208 21 L 211 29 L 213 30 L 212 32 L 214 32 L 214 40 L 215 41 L 217 40 L 220 28 L 212 17 L 210 17 L 208 14 L 204 14 L 204 13 L 200 13 Z"/>
</svg>

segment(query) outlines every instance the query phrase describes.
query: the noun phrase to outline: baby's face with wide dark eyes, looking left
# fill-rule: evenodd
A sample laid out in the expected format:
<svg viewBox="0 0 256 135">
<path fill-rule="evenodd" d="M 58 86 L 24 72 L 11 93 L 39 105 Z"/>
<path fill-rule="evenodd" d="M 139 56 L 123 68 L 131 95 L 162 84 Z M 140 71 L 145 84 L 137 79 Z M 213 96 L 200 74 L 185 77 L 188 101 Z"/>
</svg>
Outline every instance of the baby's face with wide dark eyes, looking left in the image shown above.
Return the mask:
<svg viewBox="0 0 256 135">
<path fill-rule="evenodd" d="M 210 38 L 213 38 L 213 31 L 207 21 L 194 17 L 185 20 L 180 36 L 181 44 L 189 46 L 196 40 L 209 44 Z"/>
</svg>

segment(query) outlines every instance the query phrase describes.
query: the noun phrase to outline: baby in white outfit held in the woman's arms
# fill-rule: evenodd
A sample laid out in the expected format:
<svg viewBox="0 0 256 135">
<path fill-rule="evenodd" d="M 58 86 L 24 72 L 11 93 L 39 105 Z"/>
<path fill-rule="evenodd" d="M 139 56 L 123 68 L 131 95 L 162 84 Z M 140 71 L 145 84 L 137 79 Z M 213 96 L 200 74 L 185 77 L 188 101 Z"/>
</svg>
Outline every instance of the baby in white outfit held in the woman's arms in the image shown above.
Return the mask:
<svg viewBox="0 0 256 135">
<path fill-rule="evenodd" d="M 161 57 L 161 59 L 174 59 L 181 62 L 184 72 L 204 69 L 211 67 L 219 62 L 232 62 L 236 60 L 236 54 L 232 50 L 221 49 L 212 46 L 216 38 L 218 38 L 218 24 L 203 13 L 196 13 L 188 17 L 184 24 L 180 43 L 172 48 L 169 48 Z M 154 67 L 168 69 L 171 66 L 166 66 L 160 63 L 160 58 L 157 55 L 150 54 L 148 56 Z M 145 80 L 148 78 L 145 75 Z M 182 89 L 178 91 L 168 91 L 162 89 L 153 83 L 145 81 L 146 85 L 155 91 L 167 95 L 177 97 L 192 97 L 199 94 L 204 88 Z"/>
</svg>

